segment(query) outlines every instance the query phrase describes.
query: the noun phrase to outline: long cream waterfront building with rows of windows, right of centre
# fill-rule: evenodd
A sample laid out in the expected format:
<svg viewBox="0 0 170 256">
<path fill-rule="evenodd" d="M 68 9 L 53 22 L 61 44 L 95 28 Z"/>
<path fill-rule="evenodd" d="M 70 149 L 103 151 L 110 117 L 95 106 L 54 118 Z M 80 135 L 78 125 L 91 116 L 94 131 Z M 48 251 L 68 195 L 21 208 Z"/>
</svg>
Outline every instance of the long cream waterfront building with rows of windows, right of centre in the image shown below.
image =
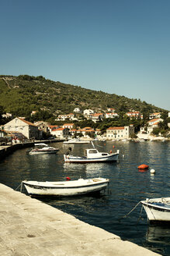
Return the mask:
<svg viewBox="0 0 170 256">
<path fill-rule="evenodd" d="M 106 130 L 107 140 L 123 140 L 128 139 L 134 133 L 134 126 L 109 127 Z"/>
</svg>

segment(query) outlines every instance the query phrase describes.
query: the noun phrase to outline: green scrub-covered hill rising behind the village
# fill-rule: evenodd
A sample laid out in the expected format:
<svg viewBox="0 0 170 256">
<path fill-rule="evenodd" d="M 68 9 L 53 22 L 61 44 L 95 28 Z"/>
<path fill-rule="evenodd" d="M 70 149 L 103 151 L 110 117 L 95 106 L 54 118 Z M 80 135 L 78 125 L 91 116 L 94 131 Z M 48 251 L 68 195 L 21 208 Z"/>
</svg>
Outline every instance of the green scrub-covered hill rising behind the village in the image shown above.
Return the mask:
<svg viewBox="0 0 170 256">
<path fill-rule="evenodd" d="M 116 112 L 132 109 L 159 112 L 163 109 L 140 99 L 130 99 L 102 91 L 47 80 L 43 76 L 0 76 L 0 106 L 14 116 L 30 116 L 32 111 L 46 111 L 50 115 L 68 114 L 75 108 L 92 108 L 95 112 L 115 108 Z"/>
</svg>

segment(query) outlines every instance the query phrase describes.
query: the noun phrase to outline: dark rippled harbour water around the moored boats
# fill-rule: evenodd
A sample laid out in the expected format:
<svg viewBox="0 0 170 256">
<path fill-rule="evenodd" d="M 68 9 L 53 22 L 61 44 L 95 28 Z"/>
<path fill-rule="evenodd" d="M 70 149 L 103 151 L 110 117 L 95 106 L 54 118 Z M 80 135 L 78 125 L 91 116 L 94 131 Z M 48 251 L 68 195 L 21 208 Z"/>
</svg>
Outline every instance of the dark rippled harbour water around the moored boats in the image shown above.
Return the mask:
<svg viewBox="0 0 170 256">
<path fill-rule="evenodd" d="M 109 178 L 109 191 L 99 197 L 65 197 L 43 200 L 53 207 L 75 215 L 78 219 L 115 233 L 162 255 L 170 255 L 170 226 L 149 226 L 146 214 L 141 212 L 139 201 L 150 197 L 170 196 L 170 143 L 169 142 L 95 142 L 99 150 L 120 149 L 120 162 L 99 164 L 64 164 L 63 154 L 68 146 L 51 144 L 60 148 L 57 155 L 29 155 L 29 149 L 14 152 L 0 162 L 0 183 L 16 189 L 22 180 L 71 180 L 79 177 Z M 114 148 L 113 148 L 114 146 Z M 87 145 L 72 145 L 74 155 L 82 155 Z M 138 165 L 147 164 L 155 169 L 139 172 Z M 24 191 L 25 192 L 25 191 Z M 141 217 L 141 218 L 140 218 Z"/>
</svg>

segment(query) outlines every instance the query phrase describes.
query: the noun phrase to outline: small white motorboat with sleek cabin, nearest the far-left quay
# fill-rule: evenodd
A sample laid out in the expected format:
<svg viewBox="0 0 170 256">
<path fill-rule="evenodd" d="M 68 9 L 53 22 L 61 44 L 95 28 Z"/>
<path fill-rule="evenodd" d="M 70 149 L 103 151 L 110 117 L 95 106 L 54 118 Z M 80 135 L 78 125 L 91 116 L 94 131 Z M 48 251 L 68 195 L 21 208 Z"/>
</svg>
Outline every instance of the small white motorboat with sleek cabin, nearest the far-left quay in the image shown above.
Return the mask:
<svg viewBox="0 0 170 256">
<path fill-rule="evenodd" d="M 59 148 L 50 147 L 45 143 L 37 143 L 34 145 L 36 148 L 33 148 L 31 151 L 29 151 L 30 155 L 55 154 L 57 151 L 59 151 Z"/>
</svg>

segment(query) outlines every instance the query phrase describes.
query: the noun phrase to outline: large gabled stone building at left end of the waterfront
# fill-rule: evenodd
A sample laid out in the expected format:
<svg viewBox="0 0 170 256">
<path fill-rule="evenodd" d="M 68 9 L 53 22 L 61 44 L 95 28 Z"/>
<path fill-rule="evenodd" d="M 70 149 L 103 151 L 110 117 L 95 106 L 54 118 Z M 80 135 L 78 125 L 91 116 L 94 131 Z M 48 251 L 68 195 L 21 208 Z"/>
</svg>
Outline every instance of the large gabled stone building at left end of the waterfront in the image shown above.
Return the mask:
<svg viewBox="0 0 170 256">
<path fill-rule="evenodd" d="M 12 119 L 9 123 L 6 123 L 4 126 L 5 131 L 8 132 L 18 132 L 22 133 L 26 138 L 40 138 L 40 132 L 38 126 L 33 123 L 16 117 Z"/>
</svg>

